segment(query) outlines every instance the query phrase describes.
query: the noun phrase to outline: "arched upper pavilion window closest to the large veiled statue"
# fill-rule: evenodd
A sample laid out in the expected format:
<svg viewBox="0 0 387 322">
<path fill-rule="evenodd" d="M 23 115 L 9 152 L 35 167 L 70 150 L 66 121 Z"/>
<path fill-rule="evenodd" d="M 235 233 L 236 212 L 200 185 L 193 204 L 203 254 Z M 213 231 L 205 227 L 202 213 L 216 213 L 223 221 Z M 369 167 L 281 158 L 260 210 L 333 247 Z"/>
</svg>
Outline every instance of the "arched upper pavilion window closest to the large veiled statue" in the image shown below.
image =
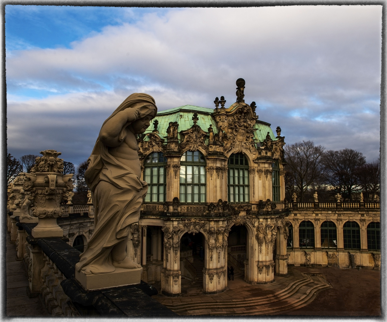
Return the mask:
<svg viewBox="0 0 387 322">
<path fill-rule="evenodd" d="M 148 183 L 145 202 L 165 201 L 165 166 L 167 159 L 163 153 L 153 152 L 144 162 L 144 181 Z"/>
</svg>

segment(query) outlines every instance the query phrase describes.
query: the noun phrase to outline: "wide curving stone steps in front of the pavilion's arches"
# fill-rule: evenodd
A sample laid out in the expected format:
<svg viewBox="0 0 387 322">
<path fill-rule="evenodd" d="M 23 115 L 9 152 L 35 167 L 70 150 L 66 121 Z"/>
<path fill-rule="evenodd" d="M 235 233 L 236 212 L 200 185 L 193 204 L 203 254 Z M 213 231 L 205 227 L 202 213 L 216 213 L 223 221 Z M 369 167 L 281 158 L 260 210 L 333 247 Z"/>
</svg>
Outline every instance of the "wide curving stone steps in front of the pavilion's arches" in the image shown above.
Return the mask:
<svg viewBox="0 0 387 322">
<path fill-rule="evenodd" d="M 309 304 L 317 293 L 328 288 L 330 284 L 320 274 L 300 273 L 299 278 L 275 292 L 250 288 L 251 296 L 232 298 L 230 289 L 223 293 L 230 295 L 229 300 L 207 297 L 161 303 L 179 315 L 275 315 Z"/>
</svg>

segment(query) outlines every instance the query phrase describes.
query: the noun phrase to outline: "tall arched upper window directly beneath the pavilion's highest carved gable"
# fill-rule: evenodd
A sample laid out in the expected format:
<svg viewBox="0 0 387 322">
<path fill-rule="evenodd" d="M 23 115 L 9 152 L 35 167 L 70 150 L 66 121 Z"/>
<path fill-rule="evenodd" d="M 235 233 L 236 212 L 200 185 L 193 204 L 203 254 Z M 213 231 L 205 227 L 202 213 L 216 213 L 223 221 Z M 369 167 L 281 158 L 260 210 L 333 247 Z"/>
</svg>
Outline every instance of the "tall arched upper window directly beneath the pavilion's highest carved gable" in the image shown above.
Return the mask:
<svg viewBox="0 0 387 322">
<path fill-rule="evenodd" d="M 244 154 L 231 154 L 228 159 L 228 201 L 248 202 L 248 161 Z"/>
</svg>

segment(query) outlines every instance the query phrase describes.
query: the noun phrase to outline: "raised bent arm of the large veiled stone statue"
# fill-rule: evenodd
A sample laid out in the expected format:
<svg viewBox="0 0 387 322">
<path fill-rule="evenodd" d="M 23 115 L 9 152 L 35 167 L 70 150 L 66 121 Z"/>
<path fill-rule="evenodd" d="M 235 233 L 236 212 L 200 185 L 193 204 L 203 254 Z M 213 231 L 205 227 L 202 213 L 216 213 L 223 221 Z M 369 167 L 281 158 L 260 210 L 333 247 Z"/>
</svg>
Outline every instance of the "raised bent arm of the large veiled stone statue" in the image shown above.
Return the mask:
<svg viewBox="0 0 387 322">
<path fill-rule="evenodd" d="M 116 147 L 122 143 L 120 132 L 130 123 L 137 119 L 139 110 L 137 108 L 126 108 L 118 112 L 108 120 L 99 131 L 99 140 L 109 147 Z"/>
</svg>

